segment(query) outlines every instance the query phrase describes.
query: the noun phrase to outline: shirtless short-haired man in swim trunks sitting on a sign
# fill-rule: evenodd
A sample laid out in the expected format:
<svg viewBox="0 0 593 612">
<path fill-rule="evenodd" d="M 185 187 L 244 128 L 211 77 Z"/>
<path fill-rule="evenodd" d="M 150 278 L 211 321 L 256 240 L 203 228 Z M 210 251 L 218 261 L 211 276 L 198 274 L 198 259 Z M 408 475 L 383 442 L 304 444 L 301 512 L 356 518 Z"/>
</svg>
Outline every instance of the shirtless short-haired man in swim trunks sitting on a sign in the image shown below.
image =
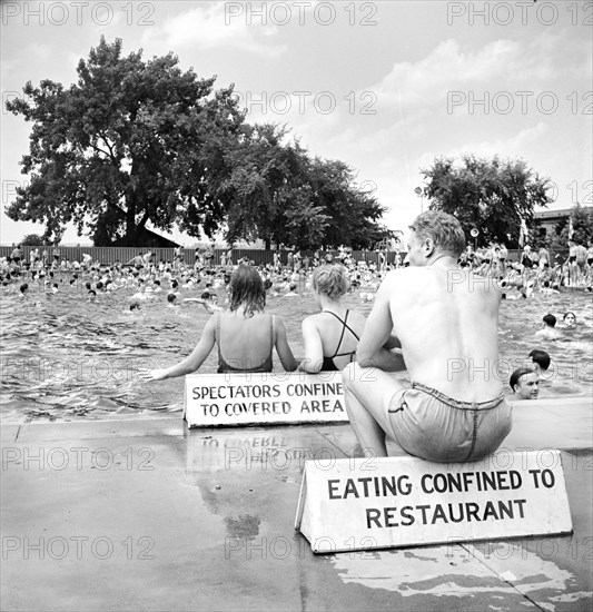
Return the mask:
<svg viewBox="0 0 593 612">
<path fill-rule="evenodd" d="M 387 456 L 386 434 L 408 454 L 473 461 L 511 431 L 511 407 L 493 375 L 501 293 L 457 265 L 459 223 L 429 210 L 411 227 L 411 267 L 391 272 L 343 372 L 346 408 L 366 456 Z M 401 349 L 391 349 L 401 345 Z M 405 363 L 404 363 L 405 361 Z M 407 367 L 412 387 L 394 372 Z"/>
</svg>

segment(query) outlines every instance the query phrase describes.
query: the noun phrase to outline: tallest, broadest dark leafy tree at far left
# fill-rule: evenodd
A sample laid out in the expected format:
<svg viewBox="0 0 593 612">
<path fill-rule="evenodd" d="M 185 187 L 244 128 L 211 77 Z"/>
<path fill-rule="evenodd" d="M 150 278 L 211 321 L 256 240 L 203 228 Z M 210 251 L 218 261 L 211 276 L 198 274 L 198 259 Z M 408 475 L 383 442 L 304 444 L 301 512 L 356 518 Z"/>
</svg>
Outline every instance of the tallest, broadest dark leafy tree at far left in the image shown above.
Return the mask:
<svg viewBox="0 0 593 612">
<path fill-rule="evenodd" d="M 28 82 L 26 99 L 7 109 L 32 121 L 30 152 L 22 158 L 29 184 L 7 214 L 46 224 L 46 239 L 68 223 L 96 244 L 150 223 L 191 236 L 215 231 L 225 218 L 220 186 L 226 151 L 244 130 L 233 87 L 214 91 L 215 78 L 181 71 L 171 53 L 144 61 L 121 55 L 121 40 L 101 38 L 78 82 Z"/>
</svg>

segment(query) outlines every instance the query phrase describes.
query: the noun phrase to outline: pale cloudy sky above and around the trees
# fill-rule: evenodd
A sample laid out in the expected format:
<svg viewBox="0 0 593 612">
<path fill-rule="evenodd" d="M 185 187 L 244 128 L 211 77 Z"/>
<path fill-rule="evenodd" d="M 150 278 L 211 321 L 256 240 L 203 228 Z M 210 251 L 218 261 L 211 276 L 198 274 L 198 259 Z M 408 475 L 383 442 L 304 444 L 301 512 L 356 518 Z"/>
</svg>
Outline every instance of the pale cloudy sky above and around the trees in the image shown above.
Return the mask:
<svg viewBox="0 0 593 612">
<path fill-rule="evenodd" d="M 593 205 L 591 1 L 2 2 L 0 244 L 42 234 L 4 208 L 27 181 L 31 125 L 4 102 L 30 80 L 76 82 L 100 37 L 145 60 L 235 83 L 249 122 L 287 125 L 309 154 L 339 159 L 405 230 L 436 157 L 524 159 L 555 201 Z M 186 245 L 197 239 L 174 231 Z M 90 244 L 68 228 L 62 244 Z"/>
</svg>

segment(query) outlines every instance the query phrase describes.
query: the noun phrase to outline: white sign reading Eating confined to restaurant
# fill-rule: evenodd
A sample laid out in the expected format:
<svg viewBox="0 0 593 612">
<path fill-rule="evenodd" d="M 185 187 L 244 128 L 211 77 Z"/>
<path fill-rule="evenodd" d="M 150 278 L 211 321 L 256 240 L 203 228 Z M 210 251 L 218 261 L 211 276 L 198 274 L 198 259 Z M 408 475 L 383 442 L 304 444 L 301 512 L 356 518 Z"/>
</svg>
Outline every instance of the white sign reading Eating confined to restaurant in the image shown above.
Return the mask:
<svg viewBox="0 0 593 612">
<path fill-rule="evenodd" d="M 473 463 L 307 461 L 295 527 L 314 553 L 572 532 L 560 452 Z"/>
</svg>

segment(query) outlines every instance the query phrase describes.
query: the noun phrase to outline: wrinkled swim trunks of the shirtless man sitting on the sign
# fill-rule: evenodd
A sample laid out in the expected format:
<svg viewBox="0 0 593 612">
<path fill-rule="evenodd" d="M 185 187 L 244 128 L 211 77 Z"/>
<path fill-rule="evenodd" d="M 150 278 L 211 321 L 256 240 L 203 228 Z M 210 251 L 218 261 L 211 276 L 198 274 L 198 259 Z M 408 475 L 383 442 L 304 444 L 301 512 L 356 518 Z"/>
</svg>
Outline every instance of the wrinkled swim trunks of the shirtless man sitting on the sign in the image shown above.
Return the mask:
<svg viewBox="0 0 593 612">
<path fill-rule="evenodd" d="M 504 395 L 490 402 L 457 402 L 413 383 L 387 408 L 391 434 L 411 455 L 435 462 L 475 461 L 498 448 L 512 427 Z"/>
</svg>

